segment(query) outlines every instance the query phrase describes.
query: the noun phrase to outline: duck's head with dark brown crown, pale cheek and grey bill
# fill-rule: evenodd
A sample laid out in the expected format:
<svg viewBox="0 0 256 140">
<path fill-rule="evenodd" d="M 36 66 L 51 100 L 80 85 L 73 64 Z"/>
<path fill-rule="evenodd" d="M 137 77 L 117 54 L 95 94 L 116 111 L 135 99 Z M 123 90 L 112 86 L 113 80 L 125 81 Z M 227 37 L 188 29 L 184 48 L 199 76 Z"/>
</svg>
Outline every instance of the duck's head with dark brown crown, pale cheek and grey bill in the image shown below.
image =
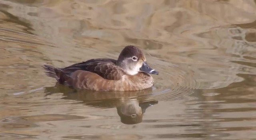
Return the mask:
<svg viewBox="0 0 256 140">
<path fill-rule="evenodd" d="M 139 71 L 158 75 L 156 70 L 148 66 L 145 55 L 136 46 L 126 46 L 120 53 L 116 65 L 130 75 L 135 75 Z"/>
</svg>

